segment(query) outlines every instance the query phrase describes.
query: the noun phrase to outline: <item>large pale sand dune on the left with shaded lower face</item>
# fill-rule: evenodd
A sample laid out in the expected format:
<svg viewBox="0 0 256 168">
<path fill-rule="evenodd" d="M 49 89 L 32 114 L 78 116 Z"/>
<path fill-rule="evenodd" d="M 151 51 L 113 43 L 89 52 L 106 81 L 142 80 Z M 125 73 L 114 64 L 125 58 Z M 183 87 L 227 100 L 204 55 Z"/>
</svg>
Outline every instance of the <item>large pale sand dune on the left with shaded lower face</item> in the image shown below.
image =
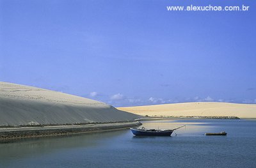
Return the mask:
<svg viewBox="0 0 256 168">
<path fill-rule="evenodd" d="M 133 121 L 111 105 L 47 89 L 0 82 L 0 126 Z"/>
</svg>

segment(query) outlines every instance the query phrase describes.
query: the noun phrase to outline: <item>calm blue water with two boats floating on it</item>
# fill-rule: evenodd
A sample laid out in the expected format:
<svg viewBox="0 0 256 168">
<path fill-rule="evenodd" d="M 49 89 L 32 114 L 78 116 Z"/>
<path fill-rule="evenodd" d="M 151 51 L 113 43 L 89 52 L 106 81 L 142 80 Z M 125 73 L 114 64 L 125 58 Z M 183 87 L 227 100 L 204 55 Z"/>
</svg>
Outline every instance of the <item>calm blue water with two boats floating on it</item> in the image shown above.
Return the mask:
<svg viewBox="0 0 256 168">
<path fill-rule="evenodd" d="M 2 143 L 0 167 L 256 167 L 255 120 L 143 121 L 146 128 L 182 125 L 172 137 L 120 130 Z M 204 135 L 223 130 L 227 136 Z"/>
</svg>

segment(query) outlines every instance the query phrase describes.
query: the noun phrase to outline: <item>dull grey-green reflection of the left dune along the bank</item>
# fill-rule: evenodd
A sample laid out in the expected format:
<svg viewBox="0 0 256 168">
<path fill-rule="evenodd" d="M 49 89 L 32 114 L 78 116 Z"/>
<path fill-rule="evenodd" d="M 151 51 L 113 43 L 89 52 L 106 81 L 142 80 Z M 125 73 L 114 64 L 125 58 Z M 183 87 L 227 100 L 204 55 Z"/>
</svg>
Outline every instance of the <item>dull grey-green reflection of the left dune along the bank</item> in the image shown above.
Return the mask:
<svg viewBox="0 0 256 168">
<path fill-rule="evenodd" d="M 0 160 L 35 157 L 70 148 L 87 148 L 104 145 L 101 142 L 122 135 L 123 131 L 97 132 L 61 137 L 19 139 L 0 144 Z"/>
</svg>

